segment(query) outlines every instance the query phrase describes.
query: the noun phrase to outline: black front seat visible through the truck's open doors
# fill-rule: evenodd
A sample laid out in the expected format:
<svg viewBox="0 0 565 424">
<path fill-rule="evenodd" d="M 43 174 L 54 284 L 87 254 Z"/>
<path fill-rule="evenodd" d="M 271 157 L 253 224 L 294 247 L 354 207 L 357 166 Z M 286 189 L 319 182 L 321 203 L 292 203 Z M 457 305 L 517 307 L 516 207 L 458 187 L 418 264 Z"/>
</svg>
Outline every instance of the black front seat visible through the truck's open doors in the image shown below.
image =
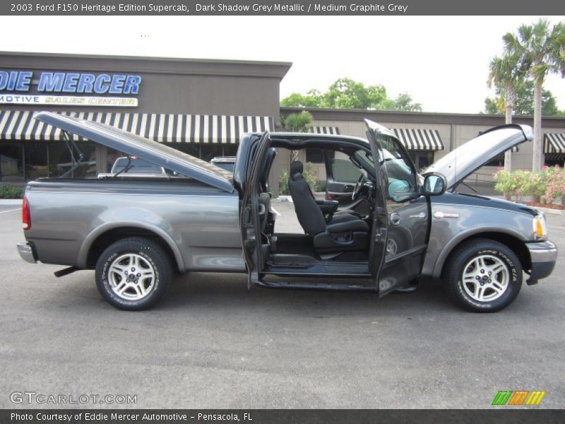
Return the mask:
<svg viewBox="0 0 565 424">
<path fill-rule="evenodd" d="M 367 249 L 369 225 L 355 216 L 349 216 L 346 220 L 340 219 L 339 222 L 332 220 L 331 223 L 326 223 L 302 172 L 301 162 L 290 164 L 288 187 L 298 221 L 304 233 L 312 237 L 316 252 L 335 253 Z"/>
</svg>

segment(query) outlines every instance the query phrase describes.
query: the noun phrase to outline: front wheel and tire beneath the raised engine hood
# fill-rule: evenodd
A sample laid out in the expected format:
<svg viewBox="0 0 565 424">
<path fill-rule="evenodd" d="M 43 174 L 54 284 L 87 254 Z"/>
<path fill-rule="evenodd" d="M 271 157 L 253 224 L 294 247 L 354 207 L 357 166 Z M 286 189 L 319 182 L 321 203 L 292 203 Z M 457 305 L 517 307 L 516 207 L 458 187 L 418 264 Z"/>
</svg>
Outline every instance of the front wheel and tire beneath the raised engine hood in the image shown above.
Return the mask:
<svg viewBox="0 0 565 424">
<path fill-rule="evenodd" d="M 465 242 L 446 264 L 444 289 L 448 298 L 471 312 L 503 310 L 516 299 L 521 287 L 520 260 L 509 247 L 494 240 Z"/>
</svg>

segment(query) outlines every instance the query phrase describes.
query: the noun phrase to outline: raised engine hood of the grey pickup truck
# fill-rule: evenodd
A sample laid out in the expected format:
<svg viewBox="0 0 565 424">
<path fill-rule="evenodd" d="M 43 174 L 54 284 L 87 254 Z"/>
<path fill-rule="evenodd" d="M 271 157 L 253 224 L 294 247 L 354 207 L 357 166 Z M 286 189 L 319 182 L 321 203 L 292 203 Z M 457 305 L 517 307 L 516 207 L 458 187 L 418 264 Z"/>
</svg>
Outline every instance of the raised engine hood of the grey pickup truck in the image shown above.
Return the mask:
<svg viewBox="0 0 565 424">
<path fill-rule="evenodd" d="M 489 160 L 524 141 L 532 140 L 531 126 L 518 124 L 495 126 L 451 151 L 427 167 L 422 174 L 441 172 L 447 178 L 447 189 L 453 189 Z"/>
</svg>

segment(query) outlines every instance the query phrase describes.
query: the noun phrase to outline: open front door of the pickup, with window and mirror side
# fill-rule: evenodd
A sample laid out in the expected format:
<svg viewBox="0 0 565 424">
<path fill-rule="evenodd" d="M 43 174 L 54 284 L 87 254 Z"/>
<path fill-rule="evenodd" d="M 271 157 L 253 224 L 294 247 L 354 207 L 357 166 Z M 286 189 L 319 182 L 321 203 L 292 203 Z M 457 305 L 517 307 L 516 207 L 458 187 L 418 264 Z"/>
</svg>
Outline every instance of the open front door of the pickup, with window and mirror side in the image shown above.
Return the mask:
<svg viewBox="0 0 565 424">
<path fill-rule="evenodd" d="M 419 177 L 408 151 L 388 129 L 365 121 L 379 161 L 386 201 L 386 251 L 379 273 L 379 296 L 418 276 L 427 248 L 429 203 L 419 196 Z"/>
</svg>

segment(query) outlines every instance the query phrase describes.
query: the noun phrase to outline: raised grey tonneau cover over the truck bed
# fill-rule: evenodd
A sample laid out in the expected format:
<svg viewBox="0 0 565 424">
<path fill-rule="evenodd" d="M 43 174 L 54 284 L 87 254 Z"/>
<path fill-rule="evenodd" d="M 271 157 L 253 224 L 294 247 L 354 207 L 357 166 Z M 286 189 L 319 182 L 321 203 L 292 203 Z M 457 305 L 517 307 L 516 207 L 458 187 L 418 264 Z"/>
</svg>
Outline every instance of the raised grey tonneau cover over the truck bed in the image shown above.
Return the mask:
<svg viewBox="0 0 565 424">
<path fill-rule="evenodd" d="M 230 172 L 165 144 L 120 131 L 113 126 L 52 112 L 39 112 L 34 117 L 45 124 L 57 126 L 64 131 L 69 131 L 127 155 L 137 156 L 155 165 L 186 175 L 186 177 L 198 179 L 198 181 L 225 192 L 231 193 L 234 191 Z"/>
</svg>

